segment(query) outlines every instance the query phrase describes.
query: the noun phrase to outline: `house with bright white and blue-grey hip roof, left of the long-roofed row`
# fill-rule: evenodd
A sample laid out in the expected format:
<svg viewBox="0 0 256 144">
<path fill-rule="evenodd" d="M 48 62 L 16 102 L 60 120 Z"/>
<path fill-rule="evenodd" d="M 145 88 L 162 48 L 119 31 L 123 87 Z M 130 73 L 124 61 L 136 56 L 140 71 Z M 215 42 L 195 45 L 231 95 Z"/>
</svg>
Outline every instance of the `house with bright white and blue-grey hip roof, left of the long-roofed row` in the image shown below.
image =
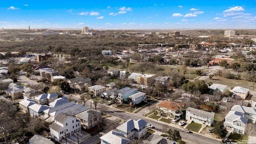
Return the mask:
<svg viewBox="0 0 256 144">
<path fill-rule="evenodd" d="M 28 106 L 30 116 L 32 117 L 40 117 L 44 115 L 44 110 L 49 109 L 50 106 L 41 105 L 41 104 L 33 104 Z"/>
</svg>

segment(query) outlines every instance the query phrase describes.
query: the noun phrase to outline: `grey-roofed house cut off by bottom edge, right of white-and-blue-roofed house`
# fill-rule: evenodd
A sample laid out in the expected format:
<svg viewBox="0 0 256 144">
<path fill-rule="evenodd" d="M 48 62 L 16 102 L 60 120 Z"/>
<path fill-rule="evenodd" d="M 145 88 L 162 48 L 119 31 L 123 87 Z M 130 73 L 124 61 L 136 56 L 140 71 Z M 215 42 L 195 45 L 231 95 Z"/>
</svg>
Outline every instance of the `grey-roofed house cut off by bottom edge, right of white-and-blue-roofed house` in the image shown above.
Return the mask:
<svg viewBox="0 0 256 144">
<path fill-rule="evenodd" d="M 178 142 L 170 140 L 168 136 L 164 137 L 158 134 L 152 134 L 152 136 L 150 136 L 150 141 L 146 140 L 146 144 L 179 144 Z"/>
</svg>

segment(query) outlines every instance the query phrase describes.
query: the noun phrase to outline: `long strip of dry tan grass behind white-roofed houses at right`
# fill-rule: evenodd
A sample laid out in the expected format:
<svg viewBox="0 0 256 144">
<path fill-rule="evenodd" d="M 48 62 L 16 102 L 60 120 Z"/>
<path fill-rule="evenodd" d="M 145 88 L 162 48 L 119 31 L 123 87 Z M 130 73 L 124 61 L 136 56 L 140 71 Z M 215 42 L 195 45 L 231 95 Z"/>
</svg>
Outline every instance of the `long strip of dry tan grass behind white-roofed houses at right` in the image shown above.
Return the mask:
<svg viewBox="0 0 256 144">
<path fill-rule="evenodd" d="M 250 90 L 252 90 L 252 88 L 253 88 L 252 82 L 247 82 L 244 80 L 232 80 L 232 79 L 228 79 L 228 78 L 222 78 L 219 76 L 214 76 L 212 78 L 212 80 L 210 80 L 210 78 L 207 78 L 206 82 L 209 82 L 209 81 L 211 81 L 214 84 L 224 84 L 231 88 L 234 88 L 235 86 L 242 86 L 244 88 L 249 88 Z"/>
</svg>

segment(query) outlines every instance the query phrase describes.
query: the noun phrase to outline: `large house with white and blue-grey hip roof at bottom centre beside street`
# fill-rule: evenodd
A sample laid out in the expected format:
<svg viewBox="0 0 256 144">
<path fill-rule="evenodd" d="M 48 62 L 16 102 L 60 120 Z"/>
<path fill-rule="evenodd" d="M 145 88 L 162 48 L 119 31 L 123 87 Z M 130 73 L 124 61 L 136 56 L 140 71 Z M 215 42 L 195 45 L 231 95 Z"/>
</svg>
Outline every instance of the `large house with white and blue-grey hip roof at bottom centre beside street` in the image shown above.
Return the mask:
<svg viewBox="0 0 256 144">
<path fill-rule="evenodd" d="M 116 131 L 124 134 L 124 137 L 131 140 L 132 138 L 140 139 L 144 136 L 147 132 L 147 122 L 146 120 L 139 119 L 139 120 L 128 120 L 124 124 L 118 126 Z"/>
</svg>

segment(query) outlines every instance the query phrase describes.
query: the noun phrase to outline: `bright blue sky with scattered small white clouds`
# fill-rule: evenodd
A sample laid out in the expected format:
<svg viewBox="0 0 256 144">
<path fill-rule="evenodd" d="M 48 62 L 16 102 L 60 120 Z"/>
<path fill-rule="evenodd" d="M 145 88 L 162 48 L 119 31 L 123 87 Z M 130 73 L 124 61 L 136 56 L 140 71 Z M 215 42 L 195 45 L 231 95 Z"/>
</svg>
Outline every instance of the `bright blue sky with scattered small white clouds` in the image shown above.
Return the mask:
<svg viewBox="0 0 256 144">
<path fill-rule="evenodd" d="M 5 0 L 0 28 L 255 29 L 256 0 Z"/>
</svg>

